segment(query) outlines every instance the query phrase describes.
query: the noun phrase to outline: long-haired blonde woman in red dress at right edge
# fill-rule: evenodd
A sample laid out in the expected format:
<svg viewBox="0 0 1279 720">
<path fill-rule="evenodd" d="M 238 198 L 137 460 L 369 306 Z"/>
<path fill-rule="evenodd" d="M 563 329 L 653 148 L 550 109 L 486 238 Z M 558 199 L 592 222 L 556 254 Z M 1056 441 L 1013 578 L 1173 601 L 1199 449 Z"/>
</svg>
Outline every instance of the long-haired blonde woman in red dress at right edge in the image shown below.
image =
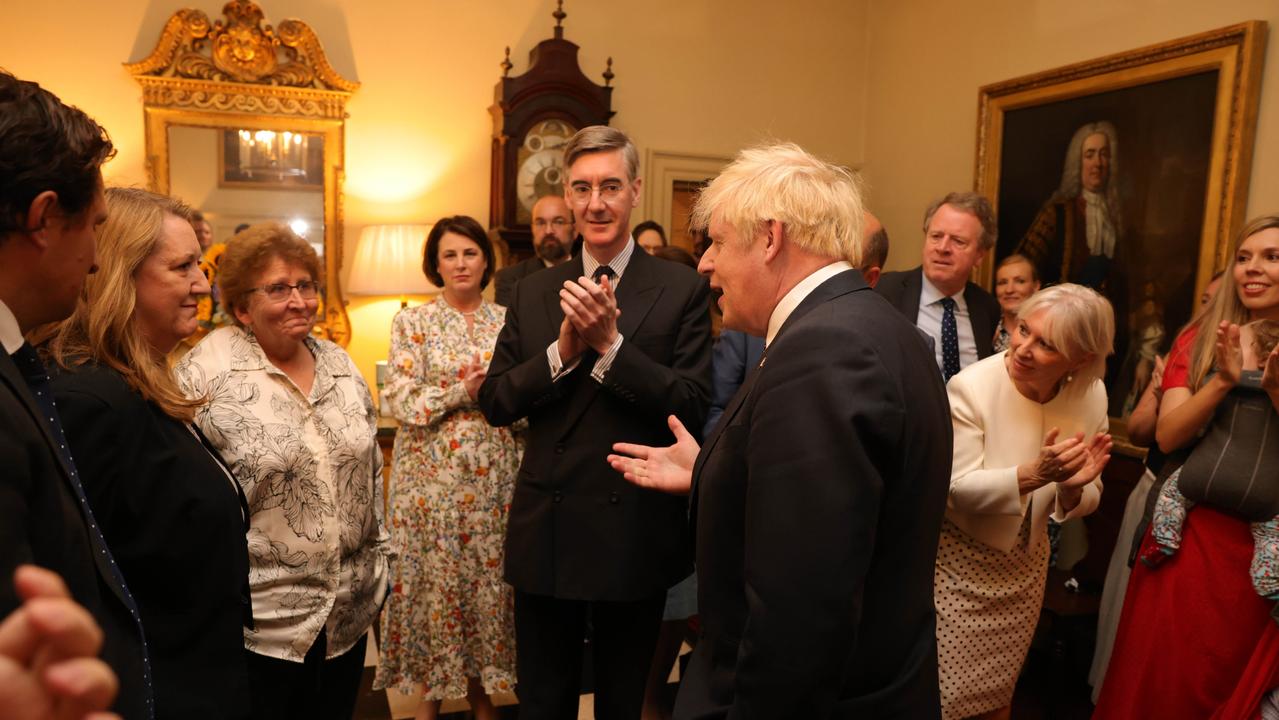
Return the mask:
<svg viewBox="0 0 1279 720">
<path fill-rule="evenodd" d="M 1262 318 L 1279 320 L 1279 214 L 1248 223 L 1207 312 L 1173 344 L 1156 430 L 1161 450 L 1196 441 L 1238 382 L 1238 326 Z M 1276 358 L 1264 366 L 1262 387 L 1279 411 Z M 1143 552 L 1150 542 L 1147 533 Z M 1279 623 L 1274 604 L 1252 588 L 1252 549 L 1247 520 L 1197 506 L 1175 556 L 1155 569 L 1133 567 L 1094 720 L 1259 716 L 1279 687 Z"/>
</svg>

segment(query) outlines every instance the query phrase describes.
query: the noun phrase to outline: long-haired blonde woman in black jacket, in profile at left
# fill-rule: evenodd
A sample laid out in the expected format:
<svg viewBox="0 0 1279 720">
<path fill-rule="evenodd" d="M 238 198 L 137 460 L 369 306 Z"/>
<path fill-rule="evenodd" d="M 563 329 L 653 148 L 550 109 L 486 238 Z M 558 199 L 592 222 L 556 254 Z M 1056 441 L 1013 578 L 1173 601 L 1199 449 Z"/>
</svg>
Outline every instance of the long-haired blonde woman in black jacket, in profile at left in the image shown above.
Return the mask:
<svg viewBox="0 0 1279 720">
<path fill-rule="evenodd" d="M 208 294 L 191 210 L 124 188 L 106 207 L 98 270 L 47 348 L 63 430 L 138 606 L 155 717 L 247 717 L 248 513 L 168 361 Z"/>
</svg>

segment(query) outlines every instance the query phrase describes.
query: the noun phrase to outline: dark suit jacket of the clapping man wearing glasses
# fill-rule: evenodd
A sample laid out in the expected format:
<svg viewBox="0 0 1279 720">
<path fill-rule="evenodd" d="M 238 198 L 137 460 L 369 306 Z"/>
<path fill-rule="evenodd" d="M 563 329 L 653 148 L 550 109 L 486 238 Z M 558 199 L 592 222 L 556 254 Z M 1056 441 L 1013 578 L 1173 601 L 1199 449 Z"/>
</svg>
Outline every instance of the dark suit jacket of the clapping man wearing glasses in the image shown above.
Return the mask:
<svg viewBox="0 0 1279 720">
<path fill-rule="evenodd" d="M 480 407 L 492 425 L 528 418 L 528 442 L 506 526 L 505 577 L 573 600 L 651 597 L 688 574 L 687 503 L 625 482 L 605 458 L 614 442 L 669 445 L 666 416 L 698 428 L 710 395 L 709 288 L 692 269 L 636 249 L 618 285 L 623 343 L 604 382 L 597 356 L 551 381 L 559 290 L 582 258 L 518 285 Z"/>
</svg>

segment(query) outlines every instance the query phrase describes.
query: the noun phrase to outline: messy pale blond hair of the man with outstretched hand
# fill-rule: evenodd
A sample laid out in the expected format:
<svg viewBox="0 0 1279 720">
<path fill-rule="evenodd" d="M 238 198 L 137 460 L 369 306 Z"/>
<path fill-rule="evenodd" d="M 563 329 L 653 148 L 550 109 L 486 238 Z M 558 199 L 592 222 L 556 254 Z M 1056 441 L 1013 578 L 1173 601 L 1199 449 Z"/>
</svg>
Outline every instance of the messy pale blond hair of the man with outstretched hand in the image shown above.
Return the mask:
<svg viewBox="0 0 1279 720">
<path fill-rule="evenodd" d="M 692 223 L 706 229 L 719 220 L 751 243 L 762 224 L 776 220 L 804 251 L 859 267 L 863 216 L 862 183 L 852 170 L 784 142 L 738 152 L 697 196 Z"/>
</svg>

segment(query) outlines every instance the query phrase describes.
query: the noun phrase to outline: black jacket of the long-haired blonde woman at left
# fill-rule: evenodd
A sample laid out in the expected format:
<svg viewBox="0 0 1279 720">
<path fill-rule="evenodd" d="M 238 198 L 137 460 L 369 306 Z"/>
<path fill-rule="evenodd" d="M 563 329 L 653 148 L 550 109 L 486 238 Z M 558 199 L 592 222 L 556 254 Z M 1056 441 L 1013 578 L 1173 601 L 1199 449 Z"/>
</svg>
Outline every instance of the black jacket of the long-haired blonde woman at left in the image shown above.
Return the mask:
<svg viewBox="0 0 1279 720">
<path fill-rule="evenodd" d="M 248 717 L 248 505 L 202 440 L 113 370 L 54 376 L 81 483 L 129 583 L 156 717 Z"/>
</svg>

